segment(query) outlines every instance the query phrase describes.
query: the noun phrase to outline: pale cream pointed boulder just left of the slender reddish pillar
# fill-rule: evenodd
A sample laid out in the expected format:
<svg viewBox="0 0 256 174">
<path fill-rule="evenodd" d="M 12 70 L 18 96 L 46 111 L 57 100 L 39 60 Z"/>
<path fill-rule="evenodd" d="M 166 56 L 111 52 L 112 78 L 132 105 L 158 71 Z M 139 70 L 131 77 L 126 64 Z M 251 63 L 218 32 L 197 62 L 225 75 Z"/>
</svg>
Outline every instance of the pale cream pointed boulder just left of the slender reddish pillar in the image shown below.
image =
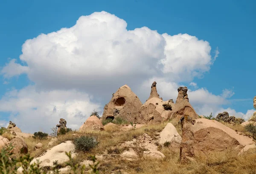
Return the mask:
<svg viewBox="0 0 256 174">
<path fill-rule="evenodd" d="M 172 147 L 179 147 L 181 140 L 182 138 L 178 134 L 175 126 L 173 126 L 172 123 L 167 123 L 165 128 L 160 133 L 159 143 L 163 145 L 166 141 L 169 141 Z"/>
</svg>

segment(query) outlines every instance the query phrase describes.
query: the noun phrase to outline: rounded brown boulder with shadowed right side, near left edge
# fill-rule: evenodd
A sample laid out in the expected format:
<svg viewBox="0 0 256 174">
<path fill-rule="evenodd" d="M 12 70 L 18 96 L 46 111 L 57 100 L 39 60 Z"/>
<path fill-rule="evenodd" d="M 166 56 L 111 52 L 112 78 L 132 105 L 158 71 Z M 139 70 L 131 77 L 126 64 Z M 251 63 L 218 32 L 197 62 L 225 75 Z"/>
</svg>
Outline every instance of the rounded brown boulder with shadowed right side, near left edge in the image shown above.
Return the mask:
<svg viewBox="0 0 256 174">
<path fill-rule="evenodd" d="M 15 137 L 13 138 L 9 144 L 12 144 L 13 149 L 12 152 L 14 154 L 26 154 L 28 153 L 28 146 L 26 141 L 22 137 Z"/>
</svg>

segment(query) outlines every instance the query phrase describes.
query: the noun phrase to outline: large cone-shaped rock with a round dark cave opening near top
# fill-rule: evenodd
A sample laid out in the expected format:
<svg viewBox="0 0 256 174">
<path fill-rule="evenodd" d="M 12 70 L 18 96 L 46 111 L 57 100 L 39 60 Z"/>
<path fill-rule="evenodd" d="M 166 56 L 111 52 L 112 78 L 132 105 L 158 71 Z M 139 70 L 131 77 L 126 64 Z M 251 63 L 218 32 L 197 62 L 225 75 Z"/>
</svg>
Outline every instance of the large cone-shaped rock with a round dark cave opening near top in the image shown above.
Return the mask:
<svg viewBox="0 0 256 174">
<path fill-rule="evenodd" d="M 138 118 L 140 107 L 142 103 L 140 99 L 131 91 L 127 85 L 120 87 L 116 93 L 113 94 L 111 101 L 105 105 L 101 120 L 116 118 L 122 120 L 123 123 L 142 123 Z"/>
</svg>

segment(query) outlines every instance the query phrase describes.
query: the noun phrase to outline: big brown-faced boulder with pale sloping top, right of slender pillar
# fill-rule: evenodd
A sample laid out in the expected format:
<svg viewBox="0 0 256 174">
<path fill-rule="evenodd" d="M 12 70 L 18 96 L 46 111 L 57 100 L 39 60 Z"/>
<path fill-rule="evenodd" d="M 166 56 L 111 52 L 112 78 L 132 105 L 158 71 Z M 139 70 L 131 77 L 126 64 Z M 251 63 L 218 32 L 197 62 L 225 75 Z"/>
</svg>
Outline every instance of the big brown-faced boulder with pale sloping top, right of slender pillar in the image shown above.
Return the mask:
<svg viewBox="0 0 256 174">
<path fill-rule="evenodd" d="M 240 152 L 244 146 L 254 144 L 252 138 L 237 134 L 224 124 L 215 121 L 200 118 L 191 126 L 194 136 L 194 149 L 196 151 L 223 151 L 227 148 L 234 152 Z M 183 137 L 182 137 L 183 138 Z"/>
</svg>

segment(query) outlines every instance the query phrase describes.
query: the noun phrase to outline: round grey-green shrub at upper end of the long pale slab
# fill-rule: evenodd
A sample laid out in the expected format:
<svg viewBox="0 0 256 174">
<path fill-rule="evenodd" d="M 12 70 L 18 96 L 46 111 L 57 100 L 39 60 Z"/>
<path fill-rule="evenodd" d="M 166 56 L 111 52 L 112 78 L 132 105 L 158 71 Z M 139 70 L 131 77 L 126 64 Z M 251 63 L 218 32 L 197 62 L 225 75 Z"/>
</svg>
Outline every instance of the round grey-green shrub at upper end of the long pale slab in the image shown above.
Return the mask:
<svg viewBox="0 0 256 174">
<path fill-rule="evenodd" d="M 88 152 L 93 149 L 97 144 L 97 140 L 94 137 L 81 136 L 75 140 L 76 151 Z"/>
</svg>

